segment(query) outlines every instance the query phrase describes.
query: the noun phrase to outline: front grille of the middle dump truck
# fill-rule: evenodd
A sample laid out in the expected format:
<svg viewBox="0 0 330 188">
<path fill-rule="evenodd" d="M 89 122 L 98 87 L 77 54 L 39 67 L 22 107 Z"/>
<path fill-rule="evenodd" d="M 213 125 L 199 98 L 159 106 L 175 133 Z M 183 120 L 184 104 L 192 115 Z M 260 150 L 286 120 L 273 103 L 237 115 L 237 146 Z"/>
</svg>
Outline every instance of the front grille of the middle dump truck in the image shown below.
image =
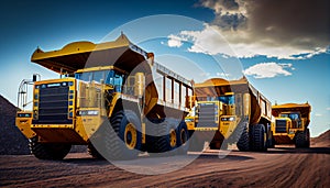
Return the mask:
<svg viewBox="0 0 330 188">
<path fill-rule="evenodd" d="M 200 103 L 197 128 L 218 128 L 216 122 L 216 104 Z"/>
</svg>

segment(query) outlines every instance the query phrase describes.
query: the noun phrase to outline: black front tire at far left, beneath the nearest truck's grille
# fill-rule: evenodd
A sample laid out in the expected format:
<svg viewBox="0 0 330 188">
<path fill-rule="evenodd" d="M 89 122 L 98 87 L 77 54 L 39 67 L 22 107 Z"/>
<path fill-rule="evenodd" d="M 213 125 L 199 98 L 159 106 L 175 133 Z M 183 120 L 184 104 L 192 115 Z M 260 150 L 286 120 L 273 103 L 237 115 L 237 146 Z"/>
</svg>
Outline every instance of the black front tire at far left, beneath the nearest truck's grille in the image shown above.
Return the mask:
<svg viewBox="0 0 330 188">
<path fill-rule="evenodd" d="M 31 153 L 38 159 L 63 159 L 70 151 L 70 144 L 40 143 L 37 136 L 29 142 Z"/>
</svg>

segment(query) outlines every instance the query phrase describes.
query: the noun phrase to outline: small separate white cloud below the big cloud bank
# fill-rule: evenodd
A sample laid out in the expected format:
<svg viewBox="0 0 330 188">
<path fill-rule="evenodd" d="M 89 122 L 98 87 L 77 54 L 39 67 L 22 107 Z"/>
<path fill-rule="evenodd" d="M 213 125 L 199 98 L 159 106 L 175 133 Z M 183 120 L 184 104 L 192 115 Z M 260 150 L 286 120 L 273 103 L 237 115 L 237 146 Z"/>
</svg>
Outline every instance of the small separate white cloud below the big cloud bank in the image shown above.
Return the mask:
<svg viewBox="0 0 330 188">
<path fill-rule="evenodd" d="M 292 64 L 261 63 L 253 65 L 244 70 L 245 75 L 254 76 L 254 78 L 273 78 L 279 75 L 290 76 L 292 73 L 286 70 Z"/>
</svg>

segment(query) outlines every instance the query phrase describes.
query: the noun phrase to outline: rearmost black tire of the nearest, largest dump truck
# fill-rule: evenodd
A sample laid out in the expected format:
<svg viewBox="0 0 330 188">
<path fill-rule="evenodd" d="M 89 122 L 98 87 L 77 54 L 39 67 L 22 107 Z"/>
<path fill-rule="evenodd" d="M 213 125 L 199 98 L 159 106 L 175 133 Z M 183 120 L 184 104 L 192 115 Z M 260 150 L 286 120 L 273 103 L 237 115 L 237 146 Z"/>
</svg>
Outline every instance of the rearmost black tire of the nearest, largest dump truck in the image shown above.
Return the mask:
<svg viewBox="0 0 330 188">
<path fill-rule="evenodd" d="M 177 128 L 177 153 L 179 155 L 186 155 L 189 150 L 189 133 L 187 129 L 186 122 L 180 122 L 179 126 Z"/>
</svg>

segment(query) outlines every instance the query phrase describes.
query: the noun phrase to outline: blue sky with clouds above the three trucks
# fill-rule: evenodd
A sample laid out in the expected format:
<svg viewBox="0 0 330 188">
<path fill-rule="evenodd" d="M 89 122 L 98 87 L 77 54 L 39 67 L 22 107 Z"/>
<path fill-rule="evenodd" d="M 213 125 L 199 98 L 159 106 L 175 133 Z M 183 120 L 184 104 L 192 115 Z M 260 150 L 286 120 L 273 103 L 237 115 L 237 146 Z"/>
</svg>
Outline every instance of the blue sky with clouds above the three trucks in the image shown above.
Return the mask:
<svg viewBox="0 0 330 188">
<path fill-rule="evenodd" d="M 14 104 L 22 79 L 33 73 L 43 79 L 57 77 L 30 62 L 37 46 L 52 51 L 75 41 L 99 43 L 113 40 L 123 30 L 133 43 L 154 52 L 157 60 L 186 77 L 191 77 L 188 69 L 202 69 L 199 78 L 230 78 L 244 71 L 273 103 L 308 101 L 314 136 L 330 128 L 330 18 L 326 0 L 0 3 L 0 93 Z M 186 18 L 140 19 L 157 14 Z M 153 37 L 147 38 L 150 35 Z M 187 68 L 189 60 L 196 67 Z"/>
</svg>

